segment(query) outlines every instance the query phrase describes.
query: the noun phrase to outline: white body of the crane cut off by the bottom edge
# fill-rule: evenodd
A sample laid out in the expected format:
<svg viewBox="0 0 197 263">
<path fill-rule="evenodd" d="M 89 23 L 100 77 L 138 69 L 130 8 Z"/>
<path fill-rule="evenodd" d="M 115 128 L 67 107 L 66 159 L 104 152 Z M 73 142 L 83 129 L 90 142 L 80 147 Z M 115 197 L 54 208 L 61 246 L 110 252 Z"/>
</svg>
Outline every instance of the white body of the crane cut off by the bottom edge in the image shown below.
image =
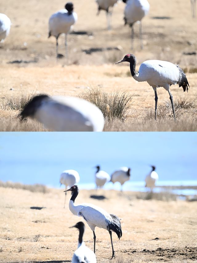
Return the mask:
<svg viewBox="0 0 197 263">
<path fill-rule="evenodd" d="M 78 249 L 75 250 L 72 263 L 96 263 L 96 256 L 92 250 L 86 247 L 85 243 L 78 243 Z"/>
</svg>

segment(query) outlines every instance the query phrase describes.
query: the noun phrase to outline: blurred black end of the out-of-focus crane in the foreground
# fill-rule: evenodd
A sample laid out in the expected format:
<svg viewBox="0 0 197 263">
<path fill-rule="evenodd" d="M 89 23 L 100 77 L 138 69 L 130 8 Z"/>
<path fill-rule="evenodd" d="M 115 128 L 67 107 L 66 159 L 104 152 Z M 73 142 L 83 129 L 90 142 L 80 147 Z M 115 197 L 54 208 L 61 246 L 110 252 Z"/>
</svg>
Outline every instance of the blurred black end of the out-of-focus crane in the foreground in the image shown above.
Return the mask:
<svg viewBox="0 0 197 263">
<path fill-rule="evenodd" d="M 34 117 L 34 114 L 42 104 L 43 100 L 47 98 L 49 98 L 49 96 L 45 94 L 40 94 L 33 97 L 29 102 L 27 102 L 27 104 L 25 105 L 22 112 L 18 115 L 18 117 L 20 117 L 22 120 L 28 116 Z"/>
</svg>

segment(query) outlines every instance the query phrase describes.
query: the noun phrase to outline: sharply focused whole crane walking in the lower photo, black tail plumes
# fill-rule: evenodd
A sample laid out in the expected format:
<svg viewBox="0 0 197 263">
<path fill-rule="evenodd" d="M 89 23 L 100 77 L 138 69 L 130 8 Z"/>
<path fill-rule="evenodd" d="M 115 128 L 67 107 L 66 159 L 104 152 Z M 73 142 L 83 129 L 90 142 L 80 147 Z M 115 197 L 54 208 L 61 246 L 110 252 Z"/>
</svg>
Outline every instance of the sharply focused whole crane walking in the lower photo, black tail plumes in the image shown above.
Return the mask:
<svg viewBox="0 0 197 263">
<path fill-rule="evenodd" d="M 90 229 L 93 231 L 94 235 L 94 253 L 95 253 L 95 227 L 106 229 L 111 238 L 111 247 L 112 247 L 112 257 L 115 257 L 115 251 L 112 242 L 112 232 L 115 232 L 120 239 L 122 236 L 121 223 L 118 216 L 107 213 L 104 209 L 95 206 L 93 204 L 82 203 L 80 205 L 75 205 L 74 201 L 79 193 L 79 188 L 77 185 L 73 185 L 70 189 L 66 191 L 72 191 L 73 195 L 70 198 L 69 209 L 75 216 L 81 216 L 89 225 Z"/>
</svg>

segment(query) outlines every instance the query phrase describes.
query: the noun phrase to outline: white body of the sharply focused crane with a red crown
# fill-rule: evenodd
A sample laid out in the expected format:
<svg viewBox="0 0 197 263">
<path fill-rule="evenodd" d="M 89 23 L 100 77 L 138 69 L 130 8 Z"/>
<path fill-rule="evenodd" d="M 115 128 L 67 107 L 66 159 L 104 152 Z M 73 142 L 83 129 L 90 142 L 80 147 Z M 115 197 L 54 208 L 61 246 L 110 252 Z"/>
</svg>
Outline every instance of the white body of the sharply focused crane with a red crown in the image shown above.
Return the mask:
<svg viewBox="0 0 197 263">
<path fill-rule="evenodd" d="M 144 61 L 139 67 L 139 74 L 133 76 L 137 81 L 147 81 L 154 91 L 159 87 L 169 91 L 169 85 L 177 84 L 180 77 L 179 67 L 163 60 Z"/>
</svg>

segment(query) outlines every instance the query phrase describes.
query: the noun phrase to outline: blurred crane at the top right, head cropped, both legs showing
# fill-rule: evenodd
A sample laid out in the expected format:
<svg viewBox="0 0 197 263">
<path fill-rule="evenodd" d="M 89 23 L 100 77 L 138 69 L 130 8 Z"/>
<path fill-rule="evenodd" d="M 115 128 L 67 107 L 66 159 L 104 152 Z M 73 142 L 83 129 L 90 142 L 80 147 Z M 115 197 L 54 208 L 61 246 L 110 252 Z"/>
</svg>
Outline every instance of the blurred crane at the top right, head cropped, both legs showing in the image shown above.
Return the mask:
<svg viewBox="0 0 197 263">
<path fill-rule="evenodd" d="M 126 3 L 124 9 L 124 22 L 125 25 L 129 24 L 131 27 L 131 49 L 133 49 L 134 42 L 134 29 L 133 25 L 135 22 L 139 21 L 139 38 L 141 43 L 141 49 L 143 49 L 142 40 L 142 22 L 141 20 L 145 15 L 148 14 L 150 5 L 147 0 L 123 0 Z"/>
</svg>

